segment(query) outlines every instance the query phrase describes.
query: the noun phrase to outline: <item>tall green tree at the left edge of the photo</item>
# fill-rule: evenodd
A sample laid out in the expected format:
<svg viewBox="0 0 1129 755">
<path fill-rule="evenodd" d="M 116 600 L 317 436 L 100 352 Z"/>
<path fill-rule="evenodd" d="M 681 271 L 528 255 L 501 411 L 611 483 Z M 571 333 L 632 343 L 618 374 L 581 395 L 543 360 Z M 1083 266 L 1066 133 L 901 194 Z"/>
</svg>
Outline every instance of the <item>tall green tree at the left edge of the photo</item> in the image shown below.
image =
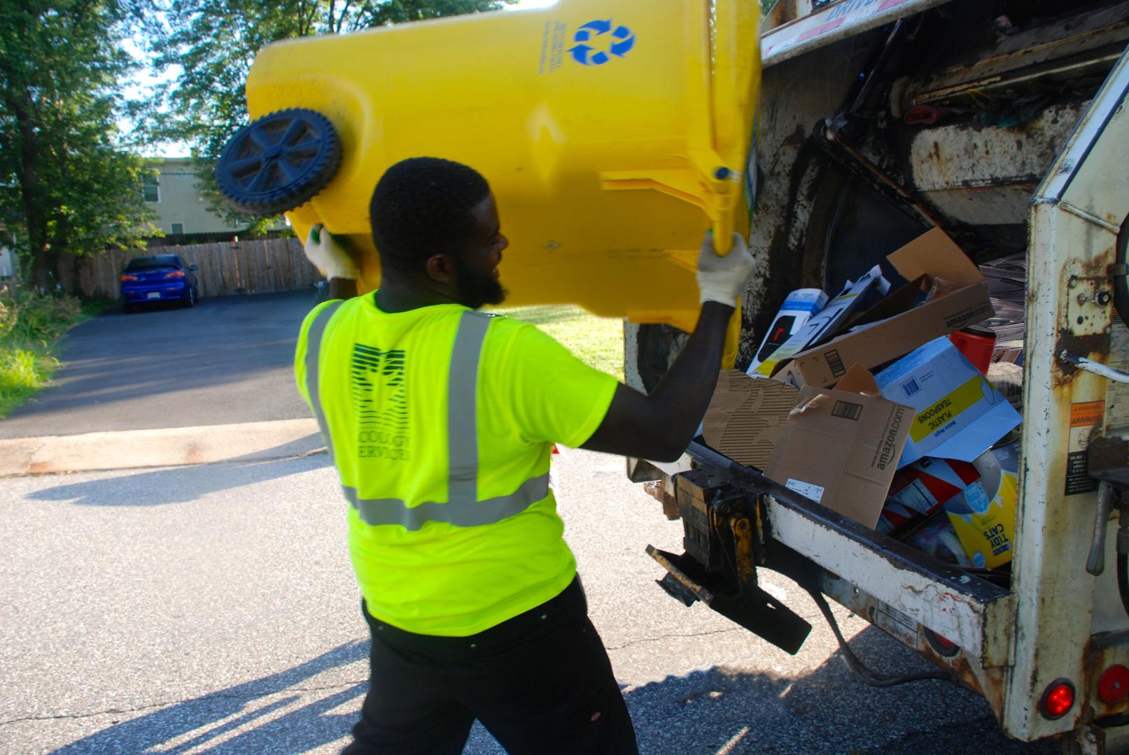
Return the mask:
<svg viewBox="0 0 1129 755">
<path fill-rule="evenodd" d="M 134 11 L 129 0 L 0 2 L 0 221 L 37 286 L 60 263 L 155 232 L 147 168 L 116 126 Z"/>
</svg>

